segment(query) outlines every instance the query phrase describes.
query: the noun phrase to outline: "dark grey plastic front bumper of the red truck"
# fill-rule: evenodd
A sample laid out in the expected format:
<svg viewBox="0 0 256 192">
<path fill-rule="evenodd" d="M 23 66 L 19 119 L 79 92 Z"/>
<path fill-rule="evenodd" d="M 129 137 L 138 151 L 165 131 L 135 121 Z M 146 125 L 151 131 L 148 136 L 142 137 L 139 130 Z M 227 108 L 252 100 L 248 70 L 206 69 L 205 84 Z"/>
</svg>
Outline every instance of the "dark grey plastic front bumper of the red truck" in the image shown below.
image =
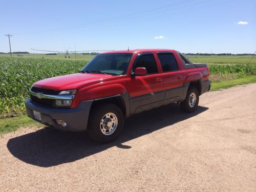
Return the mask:
<svg viewBox="0 0 256 192">
<path fill-rule="evenodd" d="M 52 126 L 58 130 L 79 132 L 87 129 L 92 102 L 92 100 L 82 101 L 75 109 L 47 108 L 34 104 L 30 99 L 25 100 L 25 105 L 27 115 L 35 121 Z M 34 117 L 33 111 L 40 113 L 41 120 Z M 57 119 L 65 121 L 67 127 L 58 125 Z"/>
</svg>

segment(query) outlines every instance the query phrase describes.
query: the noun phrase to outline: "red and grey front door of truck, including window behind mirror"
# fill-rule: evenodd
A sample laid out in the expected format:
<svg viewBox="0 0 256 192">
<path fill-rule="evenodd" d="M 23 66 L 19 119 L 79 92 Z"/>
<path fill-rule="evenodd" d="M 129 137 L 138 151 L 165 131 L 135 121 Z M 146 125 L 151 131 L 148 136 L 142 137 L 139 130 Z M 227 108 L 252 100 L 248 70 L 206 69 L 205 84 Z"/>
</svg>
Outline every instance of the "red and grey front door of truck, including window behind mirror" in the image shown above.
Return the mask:
<svg viewBox="0 0 256 192">
<path fill-rule="evenodd" d="M 137 67 L 147 70 L 145 76 L 131 76 L 127 79 L 130 94 L 130 113 L 140 113 L 161 106 L 163 104 L 163 81 L 159 74 L 153 53 L 139 54 L 133 64 L 132 72 Z"/>
</svg>

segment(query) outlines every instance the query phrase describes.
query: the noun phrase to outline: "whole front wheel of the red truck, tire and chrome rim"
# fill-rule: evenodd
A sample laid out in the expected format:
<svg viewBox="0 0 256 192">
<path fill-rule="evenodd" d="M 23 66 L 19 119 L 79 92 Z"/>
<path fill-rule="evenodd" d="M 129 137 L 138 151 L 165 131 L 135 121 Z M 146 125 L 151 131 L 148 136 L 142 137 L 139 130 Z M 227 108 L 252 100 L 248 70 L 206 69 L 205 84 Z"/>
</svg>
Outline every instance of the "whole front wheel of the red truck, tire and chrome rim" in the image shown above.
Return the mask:
<svg viewBox="0 0 256 192">
<path fill-rule="evenodd" d="M 123 129 L 123 113 L 112 103 L 98 104 L 91 111 L 88 135 L 97 142 L 108 143 L 115 140 Z"/>
</svg>

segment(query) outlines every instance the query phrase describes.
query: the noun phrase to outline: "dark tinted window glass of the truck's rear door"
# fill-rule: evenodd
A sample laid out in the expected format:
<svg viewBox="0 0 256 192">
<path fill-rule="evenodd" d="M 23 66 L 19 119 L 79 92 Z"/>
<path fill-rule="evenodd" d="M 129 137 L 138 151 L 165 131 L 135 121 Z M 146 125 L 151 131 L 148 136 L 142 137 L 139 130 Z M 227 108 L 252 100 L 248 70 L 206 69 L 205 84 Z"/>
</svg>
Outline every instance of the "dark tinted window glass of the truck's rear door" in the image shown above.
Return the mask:
<svg viewBox="0 0 256 192">
<path fill-rule="evenodd" d="M 173 53 L 158 53 L 163 72 L 177 71 L 178 64 Z"/>
</svg>

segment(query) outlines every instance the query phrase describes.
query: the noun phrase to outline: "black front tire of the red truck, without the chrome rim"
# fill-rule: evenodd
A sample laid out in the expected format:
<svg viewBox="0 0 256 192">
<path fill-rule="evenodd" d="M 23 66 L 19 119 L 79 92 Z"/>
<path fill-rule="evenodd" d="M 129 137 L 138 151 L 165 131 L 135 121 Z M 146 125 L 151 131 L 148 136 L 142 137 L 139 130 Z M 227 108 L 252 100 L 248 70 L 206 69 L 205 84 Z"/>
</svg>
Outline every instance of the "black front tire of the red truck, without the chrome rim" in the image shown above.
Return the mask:
<svg viewBox="0 0 256 192">
<path fill-rule="evenodd" d="M 115 131 L 112 134 L 104 135 L 101 131 L 101 130 L 104 130 L 104 127 L 101 124 L 101 120 L 108 113 L 112 113 L 116 116 L 117 126 L 115 128 Z M 114 141 L 122 132 L 123 121 L 124 121 L 123 113 L 117 105 L 112 103 L 98 104 L 94 106 L 92 111 L 90 112 L 88 128 L 87 128 L 88 135 L 92 140 L 96 142 L 108 143 L 108 142 Z M 109 130 L 106 130 L 105 134 L 108 134 L 108 131 Z"/>
</svg>

